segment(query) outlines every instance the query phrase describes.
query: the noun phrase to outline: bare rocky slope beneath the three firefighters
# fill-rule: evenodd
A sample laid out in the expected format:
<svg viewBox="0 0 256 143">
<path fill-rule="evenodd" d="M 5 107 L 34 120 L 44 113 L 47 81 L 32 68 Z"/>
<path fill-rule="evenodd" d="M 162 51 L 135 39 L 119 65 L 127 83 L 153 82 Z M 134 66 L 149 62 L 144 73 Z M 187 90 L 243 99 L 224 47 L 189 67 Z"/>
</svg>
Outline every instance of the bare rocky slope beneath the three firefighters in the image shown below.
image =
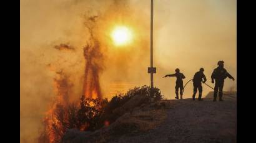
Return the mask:
<svg viewBox="0 0 256 143">
<path fill-rule="evenodd" d="M 236 142 L 236 93 L 213 102 L 174 99 L 134 108 L 108 127 L 70 131 L 66 142 Z"/>
</svg>

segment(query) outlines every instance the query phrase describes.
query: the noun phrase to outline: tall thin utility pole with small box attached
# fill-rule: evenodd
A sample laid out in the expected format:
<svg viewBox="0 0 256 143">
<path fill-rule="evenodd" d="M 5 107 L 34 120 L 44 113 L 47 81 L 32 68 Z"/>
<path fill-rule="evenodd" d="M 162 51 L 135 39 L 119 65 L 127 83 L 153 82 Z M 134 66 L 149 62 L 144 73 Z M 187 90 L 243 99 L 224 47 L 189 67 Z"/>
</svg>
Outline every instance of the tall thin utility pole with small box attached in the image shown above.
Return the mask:
<svg viewBox="0 0 256 143">
<path fill-rule="evenodd" d="M 153 74 L 156 73 L 156 68 L 153 67 L 153 11 L 154 11 L 154 0 L 151 0 L 150 9 L 150 67 L 147 68 L 147 73 L 150 73 L 150 96 L 153 96 Z"/>
</svg>

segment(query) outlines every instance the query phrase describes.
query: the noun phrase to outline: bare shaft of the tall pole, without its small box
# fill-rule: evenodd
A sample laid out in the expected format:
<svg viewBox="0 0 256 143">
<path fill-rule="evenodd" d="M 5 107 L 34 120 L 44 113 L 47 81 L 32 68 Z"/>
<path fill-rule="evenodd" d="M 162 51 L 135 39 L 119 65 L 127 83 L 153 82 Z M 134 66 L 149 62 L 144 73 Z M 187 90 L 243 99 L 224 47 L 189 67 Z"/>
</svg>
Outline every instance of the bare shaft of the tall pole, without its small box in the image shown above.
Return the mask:
<svg viewBox="0 0 256 143">
<path fill-rule="evenodd" d="M 151 16 L 150 16 L 150 68 L 153 68 L 153 1 L 151 0 Z M 150 73 L 151 90 L 154 88 L 153 73 Z"/>
</svg>

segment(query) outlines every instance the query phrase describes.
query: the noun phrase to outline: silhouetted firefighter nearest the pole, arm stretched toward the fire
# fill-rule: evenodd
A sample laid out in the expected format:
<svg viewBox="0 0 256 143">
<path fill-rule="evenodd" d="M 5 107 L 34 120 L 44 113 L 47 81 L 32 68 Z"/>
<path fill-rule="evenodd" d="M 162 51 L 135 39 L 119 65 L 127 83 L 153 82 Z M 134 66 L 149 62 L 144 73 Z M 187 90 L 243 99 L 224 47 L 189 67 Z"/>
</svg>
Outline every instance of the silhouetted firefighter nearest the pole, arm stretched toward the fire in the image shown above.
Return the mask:
<svg viewBox="0 0 256 143">
<path fill-rule="evenodd" d="M 176 86 L 175 86 L 175 94 L 176 94 L 176 99 L 179 99 L 179 88 L 180 88 L 180 99 L 182 99 L 182 95 L 183 95 L 183 80 L 185 78 L 185 76 L 183 75 L 183 73 L 180 73 L 179 68 L 175 69 L 175 73 L 171 74 L 171 75 L 165 75 L 164 77 L 167 76 L 176 76 Z"/>
</svg>

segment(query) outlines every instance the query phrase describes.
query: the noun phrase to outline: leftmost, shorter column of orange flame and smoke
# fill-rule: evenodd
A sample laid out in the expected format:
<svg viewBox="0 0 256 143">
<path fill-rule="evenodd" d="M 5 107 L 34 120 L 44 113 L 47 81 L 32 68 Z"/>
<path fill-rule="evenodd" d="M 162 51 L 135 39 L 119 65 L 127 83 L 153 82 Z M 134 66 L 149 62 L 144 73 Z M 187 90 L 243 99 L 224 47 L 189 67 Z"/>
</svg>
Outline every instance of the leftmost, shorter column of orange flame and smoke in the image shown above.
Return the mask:
<svg viewBox="0 0 256 143">
<path fill-rule="evenodd" d="M 50 109 L 46 112 L 44 119 L 42 120 L 42 128 L 39 129 L 38 142 L 54 142 L 60 141 L 61 134 L 63 132 L 54 132 L 54 127 L 59 129 L 59 121 L 56 117 L 57 112 L 63 112 L 62 109 L 66 109 L 69 105 L 69 96 L 71 96 L 71 88 L 69 76 L 67 76 L 63 71 L 57 71 L 56 77 L 54 78 L 54 89 L 56 90 L 56 97 L 52 100 Z M 64 107 L 64 108 L 62 108 Z M 64 112 L 63 112 L 64 113 Z M 61 113 L 61 115 L 63 115 Z M 64 116 L 61 118 L 65 118 Z M 56 136 L 58 134 L 59 136 Z"/>
</svg>

